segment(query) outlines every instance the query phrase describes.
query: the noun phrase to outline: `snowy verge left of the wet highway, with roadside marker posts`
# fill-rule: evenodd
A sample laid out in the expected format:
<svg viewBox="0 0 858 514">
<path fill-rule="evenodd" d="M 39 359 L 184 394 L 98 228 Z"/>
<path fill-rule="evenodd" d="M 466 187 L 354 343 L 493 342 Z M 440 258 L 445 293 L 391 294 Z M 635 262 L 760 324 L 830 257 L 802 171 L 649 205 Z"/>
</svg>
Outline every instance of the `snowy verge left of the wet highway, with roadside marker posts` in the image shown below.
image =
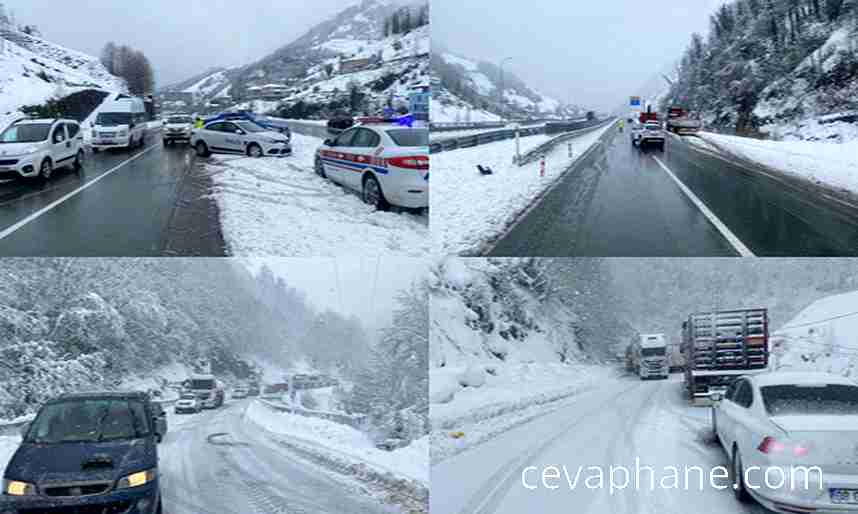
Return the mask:
<svg viewBox="0 0 858 514">
<path fill-rule="evenodd" d="M 515 139 L 433 154 L 430 216 L 434 250 L 443 254 L 479 253 L 612 127 L 556 145 L 546 156 L 544 177 L 539 176 L 539 162 L 522 167 L 512 163 Z M 523 138 L 521 152 L 548 139 L 546 135 Z M 572 146 L 571 158 L 568 145 Z M 481 175 L 478 164 L 494 173 Z"/>
</svg>

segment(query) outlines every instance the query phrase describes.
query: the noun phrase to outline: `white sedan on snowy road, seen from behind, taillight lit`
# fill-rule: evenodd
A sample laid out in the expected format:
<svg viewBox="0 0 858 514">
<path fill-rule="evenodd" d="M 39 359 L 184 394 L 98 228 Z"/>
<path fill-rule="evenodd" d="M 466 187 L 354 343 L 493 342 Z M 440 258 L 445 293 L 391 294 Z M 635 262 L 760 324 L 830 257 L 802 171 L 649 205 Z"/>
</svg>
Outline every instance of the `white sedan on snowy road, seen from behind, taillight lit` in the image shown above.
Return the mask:
<svg viewBox="0 0 858 514">
<path fill-rule="evenodd" d="M 733 490 L 784 513 L 858 513 L 858 385 L 827 373 L 765 373 L 713 393 Z"/>
</svg>

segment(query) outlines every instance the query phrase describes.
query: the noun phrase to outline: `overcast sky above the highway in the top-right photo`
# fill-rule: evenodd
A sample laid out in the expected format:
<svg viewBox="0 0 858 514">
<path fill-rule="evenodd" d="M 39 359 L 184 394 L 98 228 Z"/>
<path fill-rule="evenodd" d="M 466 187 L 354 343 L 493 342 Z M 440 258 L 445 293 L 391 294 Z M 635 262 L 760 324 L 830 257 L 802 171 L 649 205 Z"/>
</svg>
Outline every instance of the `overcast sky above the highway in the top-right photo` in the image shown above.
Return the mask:
<svg viewBox="0 0 858 514">
<path fill-rule="evenodd" d="M 432 42 L 564 102 L 613 110 L 668 69 L 724 0 L 432 0 Z"/>
</svg>

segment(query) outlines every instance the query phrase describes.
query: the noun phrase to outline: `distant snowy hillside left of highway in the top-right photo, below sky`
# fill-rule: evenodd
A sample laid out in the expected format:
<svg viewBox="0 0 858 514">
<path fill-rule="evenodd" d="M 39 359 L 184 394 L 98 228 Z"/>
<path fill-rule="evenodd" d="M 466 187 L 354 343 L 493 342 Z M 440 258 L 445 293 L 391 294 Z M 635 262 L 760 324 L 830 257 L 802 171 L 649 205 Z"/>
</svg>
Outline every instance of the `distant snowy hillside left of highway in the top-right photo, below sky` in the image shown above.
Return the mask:
<svg viewBox="0 0 858 514">
<path fill-rule="evenodd" d="M 433 121 L 493 121 L 502 112 L 508 116 L 562 117 L 579 110 L 529 87 L 508 69 L 503 71 L 501 105 L 500 73 L 491 63 L 446 51 L 434 53 L 432 74 L 440 87 L 433 91 Z M 470 120 L 465 119 L 469 116 Z"/>
</svg>

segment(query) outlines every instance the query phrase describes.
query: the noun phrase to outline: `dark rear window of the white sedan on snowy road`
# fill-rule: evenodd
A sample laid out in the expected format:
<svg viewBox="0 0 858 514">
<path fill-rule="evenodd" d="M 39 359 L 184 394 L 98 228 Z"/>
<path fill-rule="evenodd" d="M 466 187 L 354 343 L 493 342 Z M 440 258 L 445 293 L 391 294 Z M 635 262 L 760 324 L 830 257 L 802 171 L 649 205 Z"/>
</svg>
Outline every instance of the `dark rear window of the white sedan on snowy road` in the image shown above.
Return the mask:
<svg viewBox="0 0 858 514">
<path fill-rule="evenodd" d="M 770 416 L 858 415 L 858 386 L 776 385 L 760 392 Z"/>
</svg>

